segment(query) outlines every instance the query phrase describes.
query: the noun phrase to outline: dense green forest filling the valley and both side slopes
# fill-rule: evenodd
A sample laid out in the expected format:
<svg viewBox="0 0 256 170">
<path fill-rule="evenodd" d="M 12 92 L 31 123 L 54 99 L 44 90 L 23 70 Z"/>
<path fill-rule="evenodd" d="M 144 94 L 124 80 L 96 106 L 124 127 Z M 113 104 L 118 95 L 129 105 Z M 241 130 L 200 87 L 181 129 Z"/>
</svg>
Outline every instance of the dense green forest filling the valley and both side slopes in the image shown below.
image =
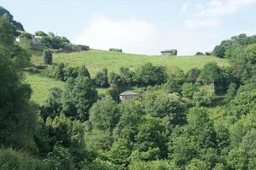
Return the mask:
<svg viewBox="0 0 256 170">
<path fill-rule="evenodd" d="M 15 42 L 24 28 L 8 11 L 0 16 L 0 170 L 256 169 L 255 36 L 213 49 L 229 67 L 212 62 L 184 72 L 146 63 L 92 78 L 85 65 L 61 63 L 44 74 L 65 88 L 36 105 L 24 74 L 31 51 Z M 43 55 L 51 65 L 51 52 Z M 141 93 L 120 102 L 131 86 Z"/>
</svg>

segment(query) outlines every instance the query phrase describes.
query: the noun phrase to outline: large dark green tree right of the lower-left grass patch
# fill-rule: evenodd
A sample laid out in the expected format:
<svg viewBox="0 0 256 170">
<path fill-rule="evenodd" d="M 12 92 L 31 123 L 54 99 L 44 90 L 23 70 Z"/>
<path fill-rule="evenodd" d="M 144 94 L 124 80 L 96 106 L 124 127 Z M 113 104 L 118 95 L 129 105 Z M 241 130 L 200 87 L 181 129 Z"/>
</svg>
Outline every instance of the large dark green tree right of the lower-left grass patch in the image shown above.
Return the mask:
<svg viewBox="0 0 256 170">
<path fill-rule="evenodd" d="M 96 88 L 88 77 L 68 78 L 62 97 L 61 113 L 86 121 L 90 107 L 96 99 Z"/>
</svg>

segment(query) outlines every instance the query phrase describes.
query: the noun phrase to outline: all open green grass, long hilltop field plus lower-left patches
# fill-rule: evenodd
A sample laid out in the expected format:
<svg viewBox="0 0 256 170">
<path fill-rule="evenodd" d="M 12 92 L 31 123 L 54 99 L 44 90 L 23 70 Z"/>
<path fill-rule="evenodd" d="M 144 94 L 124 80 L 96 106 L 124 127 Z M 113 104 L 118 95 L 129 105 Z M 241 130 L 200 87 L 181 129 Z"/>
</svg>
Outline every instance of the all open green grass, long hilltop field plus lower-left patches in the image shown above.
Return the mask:
<svg viewBox="0 0 256 170">
<path fill-rule="evenodd" d="M 217 62 L 220 66 L 227 66 L 226 59 L 219 59 L 213 56 L 177 56 L 177 57 L 164 57 L 164 56 L 148 56 L 138 54 L 123 54 L 117 52 L 108 52 L 103 50 L 92 49 L 81 53 L 71 54 L 54 54 L 54 62 L 64 62 L 66 65 L 75 67 L 79 65 L 86 65 L 92 77 L 96 75 L 96 71 L 102 68 L 108 68 L 108 71 L 119 71 L 120 67 L 129 67 L 136 69 L 138 66 L 150 62 L 154 65 L 164 65 L 168 67 L 178 66 L 183 71 L 188 71 L 191 68 L 201 68 L 208 62 Z M 33 56 L 32 63 L 40 64 L 43 62 L 42 57 Z M 33 94 L 32 100 L 38 104 L 44 103 L 47 99 L 50 88 L 63 88 L 64 82 L 58 82 L 54 79 L 41 77 L 40 75 L 27 74 L 26 80 L 32 85 Z M 99 93 L 104 93 L 104 89 L 99 88 Z"/>
</svg>

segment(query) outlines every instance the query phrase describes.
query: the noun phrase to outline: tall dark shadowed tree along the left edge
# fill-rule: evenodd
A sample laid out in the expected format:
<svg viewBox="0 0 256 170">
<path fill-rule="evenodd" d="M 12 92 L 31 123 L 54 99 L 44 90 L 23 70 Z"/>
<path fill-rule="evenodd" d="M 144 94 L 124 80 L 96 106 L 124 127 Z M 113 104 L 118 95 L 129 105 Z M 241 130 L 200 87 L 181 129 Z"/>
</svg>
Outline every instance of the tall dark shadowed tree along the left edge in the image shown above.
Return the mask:
<svg viewBox="0 0 256 170">
<path fill-rule="evenodd" d="M 9 26 L 5 20 L 0 20 L 0 144 L 35 152 L 31 132 L 35 130 L 37 114 L 29 102 L 32 90 L 10 59 L 11 49 L 5 48 L 13 45 L 13 40 L 3 42 L 7 37 L 13 38 L 12 31 L 3 30 Z"/>
</svg>

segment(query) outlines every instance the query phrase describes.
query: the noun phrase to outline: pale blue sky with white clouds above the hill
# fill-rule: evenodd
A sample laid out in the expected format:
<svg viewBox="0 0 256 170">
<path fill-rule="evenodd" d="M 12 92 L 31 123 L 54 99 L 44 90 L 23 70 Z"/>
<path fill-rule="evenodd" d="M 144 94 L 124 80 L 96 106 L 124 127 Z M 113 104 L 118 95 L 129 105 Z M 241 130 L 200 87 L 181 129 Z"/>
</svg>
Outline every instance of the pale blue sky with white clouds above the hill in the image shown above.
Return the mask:
<svg viewBox="0 0 256 170">
<path fill-rule="evenodd" d="M 131 54 L 212 51 L 256 34 L 256 0 L 0 0 L 26 31 L 52 31 L 90 48 Z"/>
</svg>

